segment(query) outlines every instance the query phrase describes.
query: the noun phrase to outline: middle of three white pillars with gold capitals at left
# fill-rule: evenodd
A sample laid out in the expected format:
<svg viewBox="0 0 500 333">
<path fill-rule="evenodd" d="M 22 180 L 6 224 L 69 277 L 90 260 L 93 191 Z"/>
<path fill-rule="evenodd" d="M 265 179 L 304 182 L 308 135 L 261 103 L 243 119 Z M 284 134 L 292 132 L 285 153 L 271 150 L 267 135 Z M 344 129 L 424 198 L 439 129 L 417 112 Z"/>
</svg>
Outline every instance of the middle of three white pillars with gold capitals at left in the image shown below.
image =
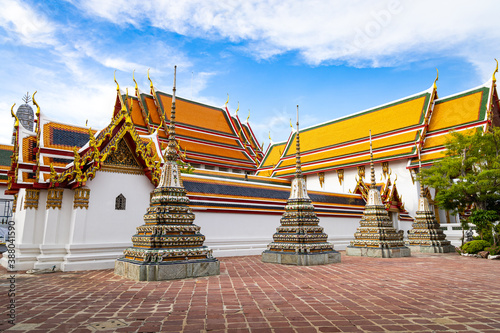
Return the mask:
<svg viewBox="0 0 500 333">
<path fill-rule="evenodd" d="M 63 261 L 66 249 L 60 241 L 61 233 L 61 207 L 64 189 L 51 188 L 47 192 L 45 210 L 45 223 L 43 240 L 40 244 L 40 255 L 34 265 L 35 269 L 53 268 L 59 269 Z"/>
</svg>

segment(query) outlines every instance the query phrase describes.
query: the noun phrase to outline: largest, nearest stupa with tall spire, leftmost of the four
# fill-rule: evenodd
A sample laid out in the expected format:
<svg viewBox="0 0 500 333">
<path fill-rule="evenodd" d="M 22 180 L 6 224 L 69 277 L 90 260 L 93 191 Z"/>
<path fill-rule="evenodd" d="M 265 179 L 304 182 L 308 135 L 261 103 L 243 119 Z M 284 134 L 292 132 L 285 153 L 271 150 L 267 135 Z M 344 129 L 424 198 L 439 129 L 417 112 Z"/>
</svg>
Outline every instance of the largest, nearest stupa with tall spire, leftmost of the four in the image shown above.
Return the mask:
<svg viewBox="0 0 500 333">
<path fill-rule="evenodd" d="M 175 75 L 169 142 L 158 186 L 151 192 L 144 225 L 133 246 L 115 262 L 115 274 L 138 281 L 159 281 L 218 275 L 220 263 L 203 245 L 205 236 L 193 224 L 194 214 L 182 184 L 175 139 Z"/>
</svg>

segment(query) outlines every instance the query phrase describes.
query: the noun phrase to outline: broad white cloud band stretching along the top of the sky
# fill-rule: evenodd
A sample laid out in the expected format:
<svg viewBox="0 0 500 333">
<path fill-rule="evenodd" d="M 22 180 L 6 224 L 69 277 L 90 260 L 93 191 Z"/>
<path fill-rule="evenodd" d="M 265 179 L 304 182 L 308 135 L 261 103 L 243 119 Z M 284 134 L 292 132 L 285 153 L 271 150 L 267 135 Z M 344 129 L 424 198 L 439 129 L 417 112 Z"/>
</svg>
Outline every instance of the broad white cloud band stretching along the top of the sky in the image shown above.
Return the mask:
<svg viewBox="0 0 500 333">
<path fill-rule="evenodd" d="M 193 37 L 246 42 L 258 58 L 298 51 L 313 65 L 393 66 L 423 54 L 500 53 L 496 1 L 74 1 L 117 24 L 152 25 Z M 490 59 L 492 61 L 492 59 Z"/>
</svg>

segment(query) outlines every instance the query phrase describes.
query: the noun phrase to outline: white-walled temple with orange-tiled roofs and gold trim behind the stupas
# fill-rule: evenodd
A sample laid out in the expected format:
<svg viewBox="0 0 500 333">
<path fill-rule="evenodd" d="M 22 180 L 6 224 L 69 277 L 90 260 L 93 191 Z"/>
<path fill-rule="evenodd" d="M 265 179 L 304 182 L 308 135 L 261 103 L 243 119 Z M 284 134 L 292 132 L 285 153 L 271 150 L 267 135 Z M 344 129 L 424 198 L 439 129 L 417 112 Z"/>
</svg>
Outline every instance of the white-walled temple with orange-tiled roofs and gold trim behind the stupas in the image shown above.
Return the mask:
<svg viewBox="0 0 500 333">
<path fill-rule="evenodd" d="M 500 125 L 494 75 L 451 96 L 438 97 L 437 90 L 434 82 L 412 96 L 300 131 L 303 180 L 336 249 L 354 239 L 368 198 L 369 129 L 380 175 L 375 187 L 406 239 L 419 209 L 419 152 L 422 167 L 429 167 L 443 156 L 450 131 Z M 14 144 L 0 145 L 0 199 L 13 205 L 16 222 L 15 269 L 112 268 L 132 246 L 159 184 L 172 95 L 151 79 L 148 93 L 135 84 L 132 95 L 117 83 L 112 119 L 100 130 L 48 119 L 36 95 L 32 99 L 33 128 L 13 106 Z M 215 257 L 261 254 L 290 196 L 297 132 L 263 152 L 248 121 L 230 114 L 227 103 L 176 97 L 176 107 L 178 163 L 204 244 Z M 433 189 L 424 188 L 424 195 L 441 227 L 458 222 L 433 205 Z"/>
</svg>

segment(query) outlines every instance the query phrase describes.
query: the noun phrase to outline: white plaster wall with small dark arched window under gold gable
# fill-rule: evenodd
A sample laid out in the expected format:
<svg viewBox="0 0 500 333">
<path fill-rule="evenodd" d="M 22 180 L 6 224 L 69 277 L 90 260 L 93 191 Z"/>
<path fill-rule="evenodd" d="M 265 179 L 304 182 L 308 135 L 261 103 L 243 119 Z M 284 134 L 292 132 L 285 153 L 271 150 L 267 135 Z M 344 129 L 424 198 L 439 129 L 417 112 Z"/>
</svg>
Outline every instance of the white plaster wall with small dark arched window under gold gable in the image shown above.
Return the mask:
<svg viewBox="0 0 500 333">
<path fill-rule="evenodd" d="M 149 194 L 154 189 L 144 175 L 97 172 L 87 182 L 90 189 L 89 209 L 83 243 L 130 243 L 136 228 L 144 224 Z M 126 198 L 126 209 L 115 210 L 115 199 Z"/>
</svg>

